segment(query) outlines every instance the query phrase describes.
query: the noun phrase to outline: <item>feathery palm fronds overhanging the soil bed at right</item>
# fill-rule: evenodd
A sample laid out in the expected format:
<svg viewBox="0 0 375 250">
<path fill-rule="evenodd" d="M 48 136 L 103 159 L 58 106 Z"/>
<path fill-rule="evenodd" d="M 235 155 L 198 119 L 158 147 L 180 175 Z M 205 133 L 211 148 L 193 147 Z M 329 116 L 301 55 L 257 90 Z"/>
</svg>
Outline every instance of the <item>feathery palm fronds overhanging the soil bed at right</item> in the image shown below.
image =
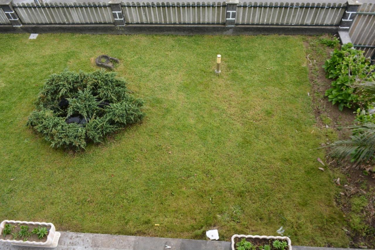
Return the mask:
<svg viewBox="0 0 375 250">
<path fill-rule="evenodd" d="M 353 133 L 349 140 L 339 140 L 323 148 L 329 147 L 332 156 L 339 159 L 350 158 L 356 164 L 374 161 L 375 123 L 361 123 L 347 128 Z"/>
</svg>

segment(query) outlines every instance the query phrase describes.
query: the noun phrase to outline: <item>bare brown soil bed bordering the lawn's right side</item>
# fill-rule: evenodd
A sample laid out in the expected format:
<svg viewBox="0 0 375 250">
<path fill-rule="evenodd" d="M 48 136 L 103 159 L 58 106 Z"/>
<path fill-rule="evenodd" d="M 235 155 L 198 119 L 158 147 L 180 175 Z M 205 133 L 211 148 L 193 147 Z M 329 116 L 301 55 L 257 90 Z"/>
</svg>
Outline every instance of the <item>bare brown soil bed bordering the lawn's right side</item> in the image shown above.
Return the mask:
<svg viewBox="0 0 375 250">
<path fill-rule="evenodd" d="M 328 37 L 328 36 L 324 36 Z M 348 139 L 351 136 L 350 130 L 346 128 L 340 128 L 341 126 L 353 125 L 355 114 L 354 110 L 344 108 L 343 111 L 339 111 L 338 105 L 332 105 L 325 96 L 327 89 L 331 87 L 332 79 L 326 78 L 326 72 L 322 68 L 325 60 L 330 58 L 330 53 L 333 51 L 332 48 L 328 48 L 325 45 L 319 44 L 319 38 L 309 37 L 308 41 L 305 42 L 306 56 L 309 56 L 308 67 L 309 67 L 309 80 L 312 84 L 311 97 L 312 107 L 314 109 L 315 117 L 317 120 L 317 127 L 326 131 L 331 130 L 337 134 L 339 140 Z M 329 117 L 329 118 L 326 118 Z M 326 120 L 324 120 L 326 118 Z M 327 119 L 331 123 L 327 124 Z M 326 134 L 328 135 L 328 134 Z M 327 143 L 332 142 L 327 139 Z M 323 143 L 321 146 L 326 145 Z M 365 170 L 370 169 L 371 166 L 363 164 L 359 167 L 353 167 L 353 164 L 349 161 L 337 161 L 336 159 L 328 155 L 329 149 L 327 149 L 327 157 L 325 159 L 328 167 L 333 172 L 339 171 L 345 175 L 345 181 L 342 181 L 342 185 L 338 185 L 336 204 L 341 208 L 344 216 L 347 218 L 348 227 L 343 228 L 351 238 L 350 247 L 353 248 L 375 248 L 375 235 L 371 236 L 371 233 L 367 236 L 360 235 L 355 229 L 351 228 L 350 214 L 352 211 L 351 198 L 365 195 L 368 199 L 367 206 L 362 209 L 361 214 L 365 227 L 372 228 L 375 230 L 375 173 L 366 172 Z M 336 179 L 333 179 L 336 181 Z M 327 247 L 331 247 L 327 245 Z"/>
</svg>

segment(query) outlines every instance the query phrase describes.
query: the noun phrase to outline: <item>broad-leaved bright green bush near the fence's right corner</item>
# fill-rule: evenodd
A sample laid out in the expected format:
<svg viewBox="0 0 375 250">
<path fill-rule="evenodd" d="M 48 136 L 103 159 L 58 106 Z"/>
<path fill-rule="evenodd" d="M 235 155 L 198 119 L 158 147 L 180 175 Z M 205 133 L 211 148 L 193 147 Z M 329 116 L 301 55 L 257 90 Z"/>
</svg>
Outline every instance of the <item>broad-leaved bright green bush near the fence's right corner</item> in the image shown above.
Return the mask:
<svg viewBox="0 0 375 250">
<path fill-rule="evenodd" d="M 344 107 L 367 107 L 371 102 L 362 95 L 358 87 L 353 86 L 360 81 L 375 79 L 375 65 L 363 56 L 363 51 L 353 49 L 353 44 L 342 45 L 341 50 L 335 49 L 332 57 L 323 65 L 327 78 L 334 78 L 332 87 L 326 91 L 332 104 L 339 104 L 339 110 Z"/>
</svg>

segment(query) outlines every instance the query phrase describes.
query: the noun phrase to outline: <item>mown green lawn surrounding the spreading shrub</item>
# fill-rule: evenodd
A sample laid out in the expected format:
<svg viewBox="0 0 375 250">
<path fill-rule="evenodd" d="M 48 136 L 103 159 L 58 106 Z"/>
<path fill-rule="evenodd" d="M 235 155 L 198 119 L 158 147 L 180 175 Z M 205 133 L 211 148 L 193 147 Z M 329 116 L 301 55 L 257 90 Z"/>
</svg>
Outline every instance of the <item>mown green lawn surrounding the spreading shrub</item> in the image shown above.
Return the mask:
<svg viewBox="0 0 375 250">
<path fill-rule="evenodd" d="M 334 176 L 311 150 L 325 138 L 305 37 L 28 36 L 0 34 L 1 220 L 194 239 L 217 228 L 222 240 L 283 226 L 295 245 L 347 246 Z M 43 81 L 93 71 L 100 54 L 120 59 L 144 121 L 86 152 L 50 148 L 26 127 Z"/>
</svg>

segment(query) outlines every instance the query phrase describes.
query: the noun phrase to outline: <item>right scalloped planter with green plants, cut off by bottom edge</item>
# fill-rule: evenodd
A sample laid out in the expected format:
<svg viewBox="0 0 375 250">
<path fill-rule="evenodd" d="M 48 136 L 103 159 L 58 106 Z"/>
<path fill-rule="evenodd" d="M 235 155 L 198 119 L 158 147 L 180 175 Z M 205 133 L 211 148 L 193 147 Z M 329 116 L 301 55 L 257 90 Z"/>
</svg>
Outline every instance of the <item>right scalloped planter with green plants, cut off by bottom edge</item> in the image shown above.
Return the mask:
<svg viewBox="0 0 375 250">
<path fill-rule="evenodd" d="M 291 241 L 284 236 L 233 235 L 232 250 L 291 250 Z"/>
</svg>

